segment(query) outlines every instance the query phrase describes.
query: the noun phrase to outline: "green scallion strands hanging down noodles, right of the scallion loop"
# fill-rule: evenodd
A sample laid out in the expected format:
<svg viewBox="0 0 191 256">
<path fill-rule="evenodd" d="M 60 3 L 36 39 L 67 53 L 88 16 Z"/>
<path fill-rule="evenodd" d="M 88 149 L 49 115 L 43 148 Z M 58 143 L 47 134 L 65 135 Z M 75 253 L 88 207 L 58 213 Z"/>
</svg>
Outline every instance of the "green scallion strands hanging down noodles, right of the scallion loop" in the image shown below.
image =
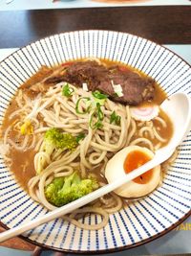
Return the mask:
<svg viewBox="0 0 191 256">
<path fill-rule="evenodd" d="M 100 104 L 96 104 L 96 109 L 95 112 L 92 113 L 91 118 L 90 118 L 90 127 L 93 129 L 96 128 L 102 128 L 103 124 L 101 121 L 103 121 L 104 114 L 101 110 Z M 96 119 L 96 121 L 95 121 Z"/>
</svg>

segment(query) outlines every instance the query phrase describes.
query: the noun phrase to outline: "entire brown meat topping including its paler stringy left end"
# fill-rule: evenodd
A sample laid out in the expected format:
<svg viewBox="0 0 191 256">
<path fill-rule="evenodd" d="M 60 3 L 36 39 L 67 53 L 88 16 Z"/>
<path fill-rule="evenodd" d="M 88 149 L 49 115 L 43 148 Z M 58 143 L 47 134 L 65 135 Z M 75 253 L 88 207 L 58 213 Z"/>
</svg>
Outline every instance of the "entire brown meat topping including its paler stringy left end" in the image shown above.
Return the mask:
<svg viewBox="0 0 191 256">
<path fill-rule="evenodd" d="M 33 92 L 47 91 L 50 86 L 67 81 L 75 86 L 87 85 L 89 91 L 99 90 L 115 102 L 125 105 L 139 105 L 154 98 L 155 81 L 145 78 L 128 68 L 113 65 L 106 67 L 96 60 L 74 61 L 57 68 L 43 67 L 42 76 L 31 85 Z M 46 74 L 47 76 L 44 76 Z"/>
</svg>

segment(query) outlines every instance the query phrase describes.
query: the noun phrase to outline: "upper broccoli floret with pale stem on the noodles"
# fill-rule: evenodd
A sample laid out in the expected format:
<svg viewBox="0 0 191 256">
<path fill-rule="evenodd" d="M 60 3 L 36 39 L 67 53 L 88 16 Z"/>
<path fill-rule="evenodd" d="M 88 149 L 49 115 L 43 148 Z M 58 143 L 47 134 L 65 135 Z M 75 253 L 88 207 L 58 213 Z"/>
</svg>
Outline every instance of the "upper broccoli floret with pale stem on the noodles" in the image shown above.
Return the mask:
<svg viewBox="0 0 191 256">
<path fill-rule="evenodd" d="M 77 147 L 76 138 L 70 133 L 62 133 L 59 128 L 46 131 L 41 151 L 51 156 L 53 151 L 74 151 Z M 46 159 L 39 158 L 36 173 L 39 175 L 46 167 Z"/>
</svg>

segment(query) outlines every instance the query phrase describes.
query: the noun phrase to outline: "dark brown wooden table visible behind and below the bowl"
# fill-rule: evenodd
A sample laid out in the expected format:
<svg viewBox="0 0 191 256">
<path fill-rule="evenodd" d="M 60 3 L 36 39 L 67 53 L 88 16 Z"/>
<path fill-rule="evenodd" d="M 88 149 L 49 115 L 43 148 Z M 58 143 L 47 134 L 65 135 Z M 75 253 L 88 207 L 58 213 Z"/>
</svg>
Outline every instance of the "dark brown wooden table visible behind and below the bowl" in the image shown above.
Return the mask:
<svg viewBox="0 0 191 256">
<path fill-rule="evenodd" d="M 22 47 L 48 35 L 89 29 L 126 32 L 159 44 L 191 44 L 191 6 L 0 12 L 0 24 L 0 48 Z M 4 245 L 34 249 L 19 238 Z"/>
</svg>

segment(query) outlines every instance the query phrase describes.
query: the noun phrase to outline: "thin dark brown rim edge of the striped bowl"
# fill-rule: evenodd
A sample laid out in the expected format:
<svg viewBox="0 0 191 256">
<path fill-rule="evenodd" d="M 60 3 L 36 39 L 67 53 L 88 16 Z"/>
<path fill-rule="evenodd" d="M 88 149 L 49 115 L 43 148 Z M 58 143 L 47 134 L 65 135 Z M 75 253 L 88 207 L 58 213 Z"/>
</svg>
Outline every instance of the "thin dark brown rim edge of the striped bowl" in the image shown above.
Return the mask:
<svg viewBox="0 0 191 256">
<path fill-rule="evenodd" d="M 90 30 L 74 30 L 74 31 L 69 31 L 69 32 L 63 32 L 63 33 L 59 33 L 59 34 L 54 34 L 54 35 L 47 35 L 47 36 L 43 36 L 35 41 L 32 41 L 30 42 L 29 44 L 23 46 L 23 47 L 19 47 L 16 51 L 14 51 L 13 53 L 11 53 L 9 56 L 7 56 L 6 58 L 3 58 L 1 61 L 0 61 L 0 65 L 1 63 L 3 63 L 7 58 L 10 58 L 12 55 L 14 55 L 15 53 L 17 53 L 18 51 L 22 50 L 23 48 L 27 47 L 27 46 L 30 46 L 32 45 L 33 43 L 35 44 L 36 42 L 40 41 L 40 40 L 43 40 L 43 39 L 46 39 L 46 38 L 50 38 L 51 36 L 55 36 L 55 35 L 64 35 L 64 34 L 71 34 L 71 33 L 79 33 L 79 32 L 87 32 L 87 33 L 90 33 L 90 32 L 108 32 L 108 33 L 117 33 L 117 34 L 124 34 L 124 35 L 133 35 L 133 36 L 137 36 L 138 38 L 141 38 L 141 39 L 145 39 L 146 41 L 149 41 L 151 43 L 154 43 L 156 45 L 158 45 L 159 47 L 161 48 L 164 48 L 165 50 L 167 50 L 168 52 L 172 53 L 174 56 L 177 56 L 178 58 L 180 58 L 181 61 L 183 61 L 185 64 L 187 64 L 189 66 L 189 68 L 191 69 L 191 64 L 188 63 L 186 60 L 184 60 L 183 58 L 180 57 L 179 54 L 176 54 L 175 52 L 173 52 L 172 50 L 168 49 L 167 47 L 157 43 L 156 41 L 154 40 L 150 40 L 150 39 L 147 39 L 145 37 L 142 37 L 142 36 L 139 36 L 139 35 L 135 35 L 135 34 L 131 34 L 131 33 L 127 33 L 127 32 L 122 32 L 122 31 L 113 31 L 113 30 L 99 30 L 99 29 L 90 29 Z M 17 182 L 17 184 L 20 186 L 20 184 Z M 21 186 L 20 186 L 21 187 Z M 171 224 L 168 228 L 162 230 L 161 232 L 159 232 L 158 234 L 154 235 L 154 236 L 151 236 L 147 239 L 144 239 L 144 240 L 141 240 L 137 243 L 134 243 L 134 244 L 127 244 L 127 245 L 122 245 L 122 246 L 118 246 L 118 247 L 114 247 L 114 248 L 106 248 L 106 249 L 100 249 L 100 250 L 73 250 L 73 249 L 63 249 L 63 248 L 56 248 L 56 247 L 53 247 L 51 245 L 47 245 L 47 244 L 41 244 L 41 243 L 38 243 L 36 241 L 32 241 L 30 238 L 28 237 L 25 237 L 23 235 L 19 235 L 18 238 L 22 239 L 23 241 L 26 241 L 28 243 L 31 243 L 31 244 L 34 244 L 36 246 L 40 246 L 42 248 L 45 248 L 45 249 L 52 249 L 53 251 L 60 251 L 60 252 L 66 252 L 66 253 L 73 253 L 73 254 L 85 254 L 85 255 L 89 255 L 89 254 L 104 254 L 104 253 L 115 253 L 115 252 L 119 252 L 119 251 L 123 251 L 123 250 L 127 250 L 127 249 L 133 249 L 133 248 L 136 248 L 140 245 L 143 245 L 143 244 L 148 244 L 150 242 L 153 242 L 155 240 L 157 240 L 158 238 L 161 238 L 162 236 L 166 235 L 167 233 L 169 233 L 170 231 L 172 231 L 173 229 L 175 229 L 177 226 L 180 225 L 180 223 L 182 223 L 183 221 L 185 221 L 187 218 L 189 218 L 191 216 L 191 209 L 182 217 L 179 219 L 179 221 L 176 221 L 175 223 Z M 1 220 L 0 220 L 0 225 L 5 228 L 6 230 L 9 230 L 10 228 L 5 224 L 3 223 Z"/>
</svg>

